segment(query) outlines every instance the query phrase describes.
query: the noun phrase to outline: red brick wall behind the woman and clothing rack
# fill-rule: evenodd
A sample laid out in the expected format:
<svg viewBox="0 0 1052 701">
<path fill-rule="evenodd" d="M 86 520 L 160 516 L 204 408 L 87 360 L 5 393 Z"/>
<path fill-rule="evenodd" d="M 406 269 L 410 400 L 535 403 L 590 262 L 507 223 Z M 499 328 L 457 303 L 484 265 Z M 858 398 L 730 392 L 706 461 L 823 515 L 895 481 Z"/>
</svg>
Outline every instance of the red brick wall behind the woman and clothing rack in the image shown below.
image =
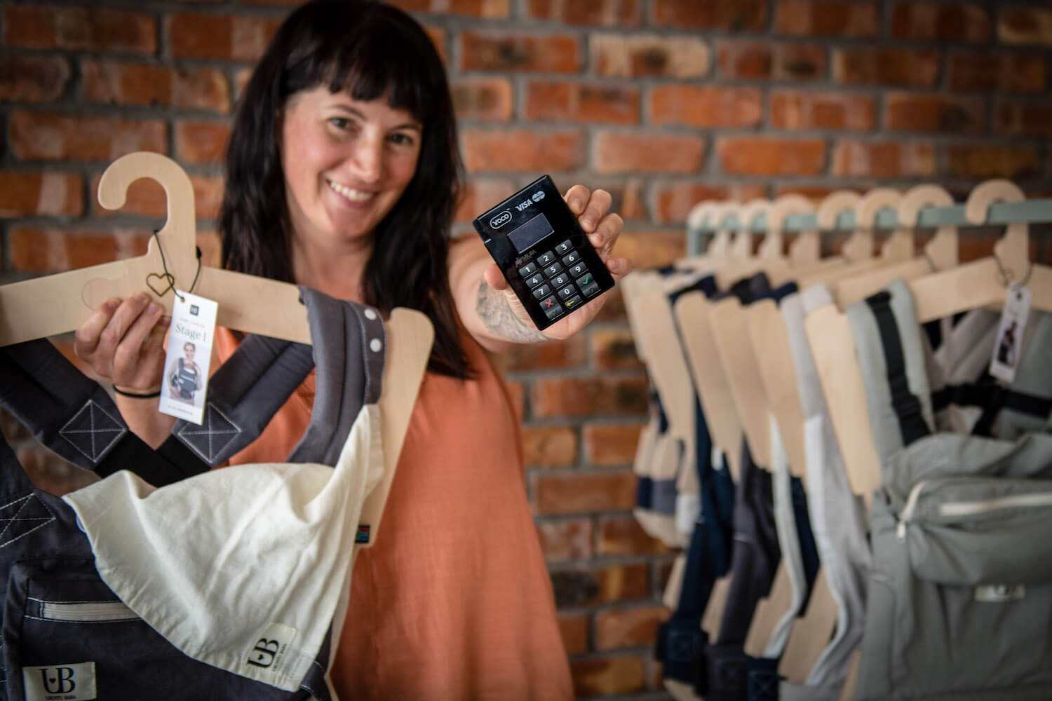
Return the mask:
<svg viewBox="0 0 1052 701">
<path fill-rule="evenodd" d="M 703 199 L 1013 179 L 1046 195 L 1052 9 L 952 0 L 400 0 L 446 61 L 471 189 L 458 230 L 541 172 L 606 187 L 642 266 Z M 163 192 L 95 200 L 122 153 L 190 173 L 211 264 L 217 161 L 282 0 L 0 2 L 0 282 L 141 253 Z M 991 233 L 966 236 L 968 257 Z M 832 241 L 832 239 L 830 240 Z M 1047 242 L 1038 251 L 1048 259 Z M 68 342 L 62 339 L 65 347 Z M 623 305 L 506 359 L 527 488 L 579 695 L 661 697 L 650 643 L 673 557 L 630 508 L 646 378 Z M 38 482 L 83 479 L 0 419 Z M 67 487 L 66 487 L 67 488 Z"/>
</svg>

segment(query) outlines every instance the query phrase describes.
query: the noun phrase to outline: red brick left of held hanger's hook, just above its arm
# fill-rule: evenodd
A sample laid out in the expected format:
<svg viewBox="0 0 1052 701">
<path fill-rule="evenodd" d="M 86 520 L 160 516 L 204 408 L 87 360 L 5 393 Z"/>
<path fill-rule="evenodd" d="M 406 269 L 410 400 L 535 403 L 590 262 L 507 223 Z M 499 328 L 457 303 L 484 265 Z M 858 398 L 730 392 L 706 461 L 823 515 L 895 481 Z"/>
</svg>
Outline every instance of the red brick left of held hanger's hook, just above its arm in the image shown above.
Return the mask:
<svg viewBox="0 0 1052 701">
<path fill-rule="evenodd" d="M 7 254 L 15 270 L 57 272 L 142 255 L 148 240 L 148 233 L 127 230 L 13 227 L 7 233 Z"/>
</svg>

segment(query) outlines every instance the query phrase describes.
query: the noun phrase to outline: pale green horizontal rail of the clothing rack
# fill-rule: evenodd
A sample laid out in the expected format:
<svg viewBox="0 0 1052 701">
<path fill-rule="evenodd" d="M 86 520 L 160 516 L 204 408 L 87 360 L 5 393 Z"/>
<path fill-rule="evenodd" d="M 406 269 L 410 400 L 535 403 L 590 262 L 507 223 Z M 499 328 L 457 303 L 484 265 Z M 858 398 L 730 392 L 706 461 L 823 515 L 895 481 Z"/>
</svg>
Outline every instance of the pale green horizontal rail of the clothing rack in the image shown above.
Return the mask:
<svg viewBox="0 0 1052 701">
<path fill-rule="evenodd" d="M 1052 222 L 1052 199 L 1028 200 L 1025 202 L 998 202 L 990 206 L 990 218 L 984 226 L 1005 226 L 1008 224 L 1025 222 L 1035 224 L 1041 222 Z M 893 209 L 882 209 L 876 218 L 877 229 L 894 229 L 898 224 Z M 965 218 L 965 206 L 963 204 L 952 207 L 926 207 L 920 210 L 917 218 L 916 228 L 928 229 L 938 226 L 974 226 Z M 818 229 L 818 221 L 814 214 L 790 214 L 786 218 L 783 231 L 792 233 Z M 852 231 L 855 228 L 855 215 L 852 211 L 841 213 L 836 218 L 835 231 Z M 742 230 L 741 223 L 736 214 L 728 214 L 719 222 L 710 223 L 706 218 L 701 225 L 687 226 L 687 253 L 697 255 L 705 249 L 705 235 L 712 234 L 720 230 Z M 748 225 L 748 231 L 752 233 L 765 233 L 767 231 L 767 219 L 764 214 L 758 214 Z"/>
</svg>

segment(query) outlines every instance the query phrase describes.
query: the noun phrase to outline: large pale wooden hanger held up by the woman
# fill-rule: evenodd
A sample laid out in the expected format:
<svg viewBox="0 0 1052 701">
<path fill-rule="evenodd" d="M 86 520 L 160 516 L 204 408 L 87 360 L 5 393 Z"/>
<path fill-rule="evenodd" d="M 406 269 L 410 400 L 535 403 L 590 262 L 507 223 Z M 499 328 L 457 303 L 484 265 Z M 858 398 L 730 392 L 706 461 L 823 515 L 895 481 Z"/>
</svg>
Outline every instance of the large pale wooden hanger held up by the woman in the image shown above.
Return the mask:
<svg viewBox="0 0 1052 701">
<path fill-rule="evenodd" d="M 168 202 L 167 221 L 156 239 L 150 240 L 146 253 L 0 285 L 0 345 L 74 331 L 98 304 L 109 297 L 126 298 L 139 291 L 171 312 L 171 297 L 159 296 L 148 283 L 162 280 L 166 269 L 176 286 L 186 289 L 198 272 L 194 189 L 186 172 L 175 161 L 159 153 L 139 151 L 117 159 L 102 173 L 99 203 L 107 209 L 123 207 L 127 188 L 140 178 L 160 183 Z M 166 283 L 162 285 L 166 287 Z M 310 343 L 306 307 L 300 304 L 299 289 L 295 285 L 200 266 L 194 292 L 219 303 L 217 323 L 220 326 Z M 261 300 L 266 300 L 266 304 L 261 304 Z M 383 419 L 384 477 L 362 507 L 360 522 L 370 527 L 370 541 L 364 547 L 376 542 L 380 517 L 434 337 L 428 318 L 411 309 L 391 310 L 384 326 L 387 350 L 383 394 L 379 401 Z"/>
</svg>

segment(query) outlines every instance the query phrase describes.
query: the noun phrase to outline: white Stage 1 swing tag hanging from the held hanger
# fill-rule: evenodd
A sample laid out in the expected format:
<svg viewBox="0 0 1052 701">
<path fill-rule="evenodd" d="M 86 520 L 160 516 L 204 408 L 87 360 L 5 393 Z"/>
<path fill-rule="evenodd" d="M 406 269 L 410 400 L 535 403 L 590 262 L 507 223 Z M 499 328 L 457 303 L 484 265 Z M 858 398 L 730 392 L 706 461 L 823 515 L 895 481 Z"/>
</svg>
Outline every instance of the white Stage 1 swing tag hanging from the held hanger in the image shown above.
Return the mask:
<svg viewBox="0 0 1052 701">
<path fill-rule="evenodd" d="M 198 426 L 204 416 L 218 309 L 219 305 L 211 300 L 182 291 L 176 291 L 171 305 L 171 327 L 158 410 Z"/>
</svg>

